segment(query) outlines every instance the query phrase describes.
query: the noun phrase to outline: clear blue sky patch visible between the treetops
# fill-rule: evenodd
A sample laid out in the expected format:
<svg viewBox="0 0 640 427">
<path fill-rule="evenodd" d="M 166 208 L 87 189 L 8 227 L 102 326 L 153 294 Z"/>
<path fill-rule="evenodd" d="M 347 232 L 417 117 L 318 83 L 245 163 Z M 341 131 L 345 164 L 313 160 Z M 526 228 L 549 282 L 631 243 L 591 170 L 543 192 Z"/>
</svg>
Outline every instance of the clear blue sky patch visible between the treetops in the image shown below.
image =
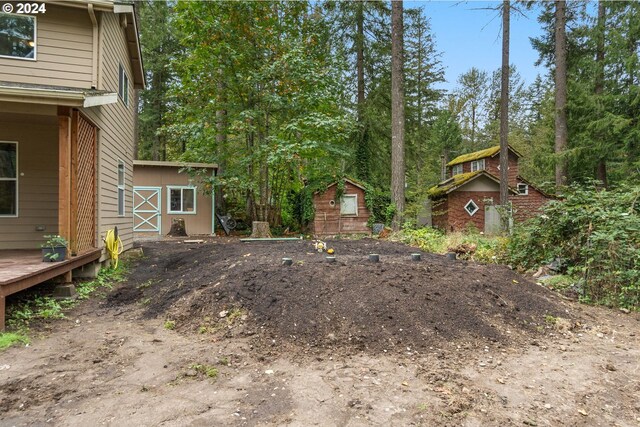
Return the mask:
<svg viewBox="0 0 640 427">
<path fill-rule="evenodd" d="M 502 18 L 495 10 L 501 1 L 406 1 L 405 8 L 424 8 L 431 20 L 437 49 L 442 52 L 447 83 L 444 89 L 453 89 L 458 76 L 471 67 L 491 72 L 501 66 Z M 510 62 L 527 84 L 536 75 L 546 73 L 535 67 L 537 52 L 531 47 L 530 37 L 541 34 L 536 17 L 538 11 L 528 11 L 527 17 L 511 14 Z"/>
</svg>

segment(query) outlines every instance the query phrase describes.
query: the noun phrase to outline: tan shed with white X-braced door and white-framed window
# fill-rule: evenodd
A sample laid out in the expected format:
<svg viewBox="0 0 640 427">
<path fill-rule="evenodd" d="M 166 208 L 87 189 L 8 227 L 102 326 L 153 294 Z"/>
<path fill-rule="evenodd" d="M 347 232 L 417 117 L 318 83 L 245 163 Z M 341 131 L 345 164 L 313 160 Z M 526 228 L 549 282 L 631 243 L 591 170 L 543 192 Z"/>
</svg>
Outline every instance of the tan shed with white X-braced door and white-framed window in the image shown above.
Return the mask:
<svg viewBox="0 0 640 427">
<path fill-rule="evenodd" d="M 186 168 L 195 171 L 189 174 Z M 162 236 L 171 220 L 182 218 L 189 235 L 214 234 L 213 194 L 204 178 L 217 165 L 135 160 L 133 162 L 133 230 L 136 238 Z"/>
</svg>

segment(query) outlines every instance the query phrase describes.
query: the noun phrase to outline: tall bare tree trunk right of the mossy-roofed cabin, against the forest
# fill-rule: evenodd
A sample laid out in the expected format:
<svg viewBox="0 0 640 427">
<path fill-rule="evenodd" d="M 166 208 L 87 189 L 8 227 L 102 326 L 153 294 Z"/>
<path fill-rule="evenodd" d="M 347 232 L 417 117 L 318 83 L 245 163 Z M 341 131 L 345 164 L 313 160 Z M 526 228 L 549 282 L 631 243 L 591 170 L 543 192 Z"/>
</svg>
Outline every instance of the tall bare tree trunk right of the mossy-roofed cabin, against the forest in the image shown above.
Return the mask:
<svg viewBox="0 0 640 427">
<path fill-rule="evenodd" d="M 555 10 L 555 154 L 556 154 L 556 187 L 567 184 L 567 34 L 566 34 L 566 2 L 556 0 Z"/>
</svg>

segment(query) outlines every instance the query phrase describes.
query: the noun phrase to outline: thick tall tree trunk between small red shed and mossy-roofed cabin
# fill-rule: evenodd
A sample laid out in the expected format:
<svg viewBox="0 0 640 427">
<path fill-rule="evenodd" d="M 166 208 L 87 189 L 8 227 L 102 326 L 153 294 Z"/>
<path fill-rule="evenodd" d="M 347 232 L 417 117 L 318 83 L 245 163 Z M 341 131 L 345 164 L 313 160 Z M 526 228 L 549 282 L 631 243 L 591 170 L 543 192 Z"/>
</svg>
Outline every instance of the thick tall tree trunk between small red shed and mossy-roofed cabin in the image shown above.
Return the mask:
<svg viewBox="0 0 640 427">
<path fill-rule="evenodd" d="M 402 0 L 391 2 L 391 199 L 396 206 L 395 231 L 402 225 L 405 182 L 402 6 Z"/>
</svg>

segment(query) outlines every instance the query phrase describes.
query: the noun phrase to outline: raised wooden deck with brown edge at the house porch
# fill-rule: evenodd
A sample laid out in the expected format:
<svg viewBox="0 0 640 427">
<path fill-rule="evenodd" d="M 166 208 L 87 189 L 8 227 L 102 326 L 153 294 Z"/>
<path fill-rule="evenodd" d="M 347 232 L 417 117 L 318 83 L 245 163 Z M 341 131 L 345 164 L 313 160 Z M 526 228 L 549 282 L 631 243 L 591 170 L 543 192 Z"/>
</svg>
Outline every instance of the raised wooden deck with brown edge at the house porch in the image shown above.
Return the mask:
<svg viewBox="0 0 640 427">
<path fill-rule="evenodd" d="M 4 331 L 5 297 L 100 259 L 92 249 L 60 262 L 42 262 L 40 250 L 0 250 L 0 331 Z M 69 276 L 69 279 L 71 277 Z"/>
</svg>

